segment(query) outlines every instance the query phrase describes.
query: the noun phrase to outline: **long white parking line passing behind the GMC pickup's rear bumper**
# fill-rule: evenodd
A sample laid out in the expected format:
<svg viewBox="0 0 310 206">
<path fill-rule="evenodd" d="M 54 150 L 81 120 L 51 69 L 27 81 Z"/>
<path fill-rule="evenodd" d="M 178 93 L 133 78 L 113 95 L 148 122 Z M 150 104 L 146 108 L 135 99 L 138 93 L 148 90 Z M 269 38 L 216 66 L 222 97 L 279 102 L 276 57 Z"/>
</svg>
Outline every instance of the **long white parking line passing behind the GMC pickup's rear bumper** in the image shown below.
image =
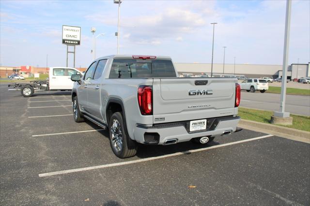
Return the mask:
<svg viewBox="0 0 310 206">
<path fill-rule="evenodd" d="M 94 169 L 101 169 L 101 168 L 107 168 L 107 167 L 121 166 L 121 165 L 126 165 L 126 164 L 134 164 L 134 163 L 138 163 L 138 162 L 147 162 L 147 161 L 151 161 L 151 160 L 157 160 L 157 159 L 163 159 L 163 158 L 173 157 L 173 156 L 178 156 L 178 155 L 183 155 L 183 154 L 190 154 L 190 153 L 194 153 L 194 152 L 200 152 L 200 151 L 214 149 L 214 148 L 218 148 L 218 147 L 225 147 L 225 146 L 229 146 L 229 145 L 236 145 L 236 144 L 240 144 L 240 143 L 244 143 L 244 142 L 250 142 L 250 141 L 254 141 L 254 140 L 258 140 L 258 139 L 263 139 L 263 138 L 267 138 L 267 137 L 272 137 L 272 136 L 273 135 L 268 134 L 268 135 L 264 135 L 264 136 L 260 136 L 260 137 L 255 137 L 255 138 L 246 139 L 246 140 L 240 140 L 240 141 L 226 143 L 226 144 L 222 144 L 222 145 L 216 145 L 216 146 L 200 148 L 200 149 L 192 149 L 192 150 L 188 150 L 188 151 L 184 151 L 184 152 L 176 152 L 176 153 L 173 153 L 173 154 L 162 155 L 162 156 L 158 156 L 158 157 L 149 157 L 149 158 L 144 158 L 144 159 L 140 159 L 140 160 L 133 160 L 133 161 L 127 161 L 127 162 L 117 162 L 117 163 L 103 164 L 103 165 L 97 165 L 97 166 L 92 166 L 92 167 L 83 167 L 83 168 L 78 168 L 78 169 L 62 170 L 62 171 L 57 171 L 57 172 L 43 173 L 43 174 L 39 174 L 39 177 L 48 177 L 48 176 L 61 175 L 61 174 L 67 174 L 67 173 L 74 173 L 74 172 L 81 172 L 81 171 L 94 170 Z"/>
</svg>

